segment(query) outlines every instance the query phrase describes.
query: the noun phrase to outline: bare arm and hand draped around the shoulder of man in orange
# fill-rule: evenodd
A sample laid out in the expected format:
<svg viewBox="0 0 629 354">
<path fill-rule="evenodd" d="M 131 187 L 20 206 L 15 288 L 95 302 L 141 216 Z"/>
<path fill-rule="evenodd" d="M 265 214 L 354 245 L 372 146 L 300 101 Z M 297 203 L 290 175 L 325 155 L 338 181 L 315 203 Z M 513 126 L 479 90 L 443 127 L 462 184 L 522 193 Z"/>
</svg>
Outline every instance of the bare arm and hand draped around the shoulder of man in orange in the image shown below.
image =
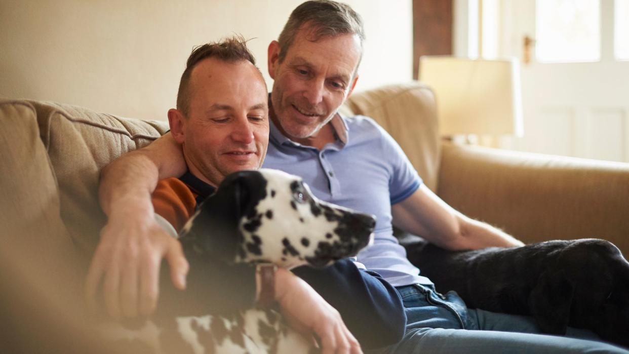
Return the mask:
<svg viewBox="0 0 629 354">
<path fill-rule="evenodd" d="M 102 282 L 114 318 L 152 313 L 162 258 L 169 262 L 175 287 L 186 287 L 188 264 L 181 245 L 157 224 L 151 203 L 158 180 L 184 172 L 181 147 L 170 133 L 103 169 L 99 199 L 108 223 L 87 274 L 86 296 L 92 307 Z"/>
</svg>

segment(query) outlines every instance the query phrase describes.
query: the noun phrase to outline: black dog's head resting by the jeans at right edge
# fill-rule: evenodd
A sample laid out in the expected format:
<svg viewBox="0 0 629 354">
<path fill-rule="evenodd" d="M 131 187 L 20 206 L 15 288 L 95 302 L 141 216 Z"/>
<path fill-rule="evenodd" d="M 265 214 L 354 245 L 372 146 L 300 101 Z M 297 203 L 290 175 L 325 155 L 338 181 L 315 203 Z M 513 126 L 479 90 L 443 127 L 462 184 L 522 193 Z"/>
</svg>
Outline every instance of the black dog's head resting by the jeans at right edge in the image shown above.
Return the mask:
<svg viewBox="0 0 629 354">
<path fill-rule="evenodd" d="M 555 314 L 547 323 L 556 333 L 571 326 L 594 328 L 604 340 L 625 343 L 629 319 L 629 263 L 605 240 L 569 241 L 556 252 L 553 270 L 538 280 L 533 292 L 542 293 L 532 307 Z"/>
</svg>

